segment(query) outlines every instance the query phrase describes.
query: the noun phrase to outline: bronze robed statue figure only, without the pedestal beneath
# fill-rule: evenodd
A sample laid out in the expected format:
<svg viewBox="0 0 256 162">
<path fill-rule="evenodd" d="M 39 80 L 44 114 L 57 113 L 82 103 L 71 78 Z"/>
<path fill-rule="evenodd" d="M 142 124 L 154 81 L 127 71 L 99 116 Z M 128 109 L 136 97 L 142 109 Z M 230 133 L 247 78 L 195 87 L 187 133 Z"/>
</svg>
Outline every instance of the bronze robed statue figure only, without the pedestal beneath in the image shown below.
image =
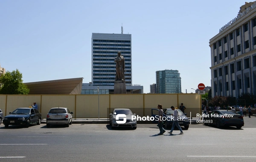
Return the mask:
<svg viewBox="0 0 256 162">
<path fill-rule="evenodd" d="M 121 52 L 117 53 L 118 56 L 115 58 L 116 62 L 116 81 L 125 81 L 125 58 L 121 55 Z"/>
</svg>

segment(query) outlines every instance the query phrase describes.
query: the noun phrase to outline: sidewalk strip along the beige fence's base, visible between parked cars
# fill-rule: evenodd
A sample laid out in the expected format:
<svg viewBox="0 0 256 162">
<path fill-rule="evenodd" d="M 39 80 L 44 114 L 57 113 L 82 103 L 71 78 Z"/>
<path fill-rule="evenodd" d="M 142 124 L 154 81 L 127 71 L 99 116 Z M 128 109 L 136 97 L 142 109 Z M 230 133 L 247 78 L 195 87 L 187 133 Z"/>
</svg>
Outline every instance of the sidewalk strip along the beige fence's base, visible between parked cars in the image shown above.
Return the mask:
<svg viewBox="0 0 256 162">
<path fill-rule="evenodd" d="M 199 124 L 196 122 L 199 118 L 192 117 L 191 124 Z M 46 119 L 42 119 L 42 124 L 46 124 Z M 100 119 L 72 119 L 72 124 L 109 124 L 109 119 L 100 118 Z M 152 121 L 137 121 L 137 124 L 153 124 Z M 189 118 L 190 124 L 190 118 Z"/>
</svg>

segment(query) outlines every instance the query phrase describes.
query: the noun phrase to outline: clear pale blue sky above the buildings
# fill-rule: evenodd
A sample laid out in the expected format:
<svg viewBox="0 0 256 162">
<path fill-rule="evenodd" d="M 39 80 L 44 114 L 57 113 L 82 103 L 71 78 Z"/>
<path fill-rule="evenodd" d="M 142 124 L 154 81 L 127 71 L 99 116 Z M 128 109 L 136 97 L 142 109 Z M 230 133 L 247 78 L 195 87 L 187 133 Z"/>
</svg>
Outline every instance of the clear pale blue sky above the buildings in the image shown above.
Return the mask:
<svg viewBox="0 0 256 162">
<path fill-rule="evenodd" d="M 180 72 L 183 93 L 211 86 L 209 39 L 245 0 L 0 0 L 0 65 L 23 82 L 91 79 L 92 33 L 132 37 L 132 83 Z"/>
</svg>

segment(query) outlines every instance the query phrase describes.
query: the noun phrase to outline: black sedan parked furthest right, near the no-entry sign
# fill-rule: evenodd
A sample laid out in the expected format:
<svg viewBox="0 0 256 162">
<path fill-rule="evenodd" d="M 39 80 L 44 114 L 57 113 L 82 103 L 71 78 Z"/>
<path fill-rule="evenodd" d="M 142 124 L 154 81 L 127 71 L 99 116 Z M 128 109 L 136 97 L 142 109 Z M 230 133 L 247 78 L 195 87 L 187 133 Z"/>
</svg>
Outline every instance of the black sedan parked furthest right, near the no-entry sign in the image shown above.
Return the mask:
<svg viewBox="0 0 256 162">
<path fill-rule="evenodd" d="M 234 126 L 240 129 L 244 126 L 244 118 L 232 110 L 213 110 L 204 117 L 203 123 L 205 125 L 216 125 L 218 128 L 222 126 Z"/>
</svg>

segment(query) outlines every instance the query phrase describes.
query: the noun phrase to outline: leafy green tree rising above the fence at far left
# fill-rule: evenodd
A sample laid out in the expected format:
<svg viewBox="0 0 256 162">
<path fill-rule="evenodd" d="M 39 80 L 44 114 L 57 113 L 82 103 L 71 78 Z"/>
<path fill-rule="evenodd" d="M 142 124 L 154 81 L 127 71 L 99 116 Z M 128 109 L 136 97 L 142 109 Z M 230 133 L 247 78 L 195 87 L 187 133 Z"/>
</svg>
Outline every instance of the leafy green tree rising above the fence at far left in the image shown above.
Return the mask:
<svg viewBox="0 0 256 162">
<path fill-rule="evenodd" d="M 18 69 L 1 75 L 0 83 L 3 84 L 0 94 L 29 94 L 29 88 L 23 84 L 22 73 Z"/>
</svg>

